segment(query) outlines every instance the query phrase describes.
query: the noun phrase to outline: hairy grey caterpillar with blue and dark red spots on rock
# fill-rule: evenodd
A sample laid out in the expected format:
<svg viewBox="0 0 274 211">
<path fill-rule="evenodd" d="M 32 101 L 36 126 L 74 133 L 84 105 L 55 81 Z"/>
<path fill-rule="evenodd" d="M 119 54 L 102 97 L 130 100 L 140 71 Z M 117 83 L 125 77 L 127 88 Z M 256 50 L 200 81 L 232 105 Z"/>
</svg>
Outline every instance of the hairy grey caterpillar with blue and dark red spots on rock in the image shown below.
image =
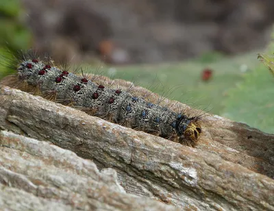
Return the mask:
<svg viewBox="0 0 274 211">
<path fill-rule="evenodd" d="M 19 52 L 12 69 L 17 71 L 20 89 L 46 99 L 71 105 L 112 123 L 194 147 L 201 134 L 201 116 L 189 117 L 160 103 L 138 97 L 129 90 L 106 87 L 69 69 L 54 66 L 34 51 Z"/>
</svg>

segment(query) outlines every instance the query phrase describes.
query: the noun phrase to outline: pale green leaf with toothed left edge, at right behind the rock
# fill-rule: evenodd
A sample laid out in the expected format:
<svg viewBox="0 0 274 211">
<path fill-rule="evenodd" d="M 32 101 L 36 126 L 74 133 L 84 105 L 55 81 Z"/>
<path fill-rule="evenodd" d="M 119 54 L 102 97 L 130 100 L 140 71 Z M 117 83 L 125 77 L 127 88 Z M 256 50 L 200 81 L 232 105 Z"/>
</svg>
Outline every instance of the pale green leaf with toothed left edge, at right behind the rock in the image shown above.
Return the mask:
<svg viewBox="0 0 274 211">
<path fill-rule="evenodd" d="M 274 133 L 274 79 L 263 65 L 230 90 L 222 116 Z"/>
</svg>

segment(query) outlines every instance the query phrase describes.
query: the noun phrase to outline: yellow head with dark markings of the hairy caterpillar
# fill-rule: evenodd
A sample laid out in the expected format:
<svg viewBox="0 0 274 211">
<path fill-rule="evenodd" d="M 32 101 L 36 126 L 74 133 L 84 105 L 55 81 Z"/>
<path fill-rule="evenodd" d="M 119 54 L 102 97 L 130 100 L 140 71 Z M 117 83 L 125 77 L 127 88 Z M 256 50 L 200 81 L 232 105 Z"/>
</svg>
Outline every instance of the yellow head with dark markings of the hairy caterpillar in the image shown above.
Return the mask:
<svg viewBox="0 0 274 211">
<path fill-rule="evenodd" d="M 179 142 L 194 146 L 201 134 L 201 125 L 197 119 L 189 119 L 182 115 L 178 119 L 177 134 L 179 134 Z"/>
</svg>

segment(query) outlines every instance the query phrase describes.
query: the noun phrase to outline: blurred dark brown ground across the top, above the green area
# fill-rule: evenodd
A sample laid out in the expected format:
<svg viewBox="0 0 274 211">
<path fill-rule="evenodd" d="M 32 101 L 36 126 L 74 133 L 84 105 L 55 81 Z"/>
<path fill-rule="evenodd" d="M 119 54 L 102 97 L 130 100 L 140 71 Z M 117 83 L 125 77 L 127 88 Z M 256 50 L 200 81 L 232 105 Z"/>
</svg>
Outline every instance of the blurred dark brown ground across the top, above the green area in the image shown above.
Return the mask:
<svg viewBox="0 0 274 211">
<path fill-rule="evenodd" d="M 57 59 L 167 62 L 269 42 L 273 0 L 21 0 L 34 47 Z"/>
</svg>

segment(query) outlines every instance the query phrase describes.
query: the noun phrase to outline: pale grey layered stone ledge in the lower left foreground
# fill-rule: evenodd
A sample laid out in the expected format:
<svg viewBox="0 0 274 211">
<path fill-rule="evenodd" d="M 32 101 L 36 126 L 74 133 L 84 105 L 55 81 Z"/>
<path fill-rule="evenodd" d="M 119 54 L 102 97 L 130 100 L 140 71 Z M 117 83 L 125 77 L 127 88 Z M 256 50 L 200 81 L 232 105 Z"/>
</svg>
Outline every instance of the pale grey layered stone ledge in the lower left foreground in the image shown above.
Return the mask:
<svg viewBox="0 0 274 211">
<path fill-rule="evenodd" d="M 126 194 L 113 169 L 12 132 L 0 132 L 0 164 L 1 210 L 176 210 Z"/>
</svg>

